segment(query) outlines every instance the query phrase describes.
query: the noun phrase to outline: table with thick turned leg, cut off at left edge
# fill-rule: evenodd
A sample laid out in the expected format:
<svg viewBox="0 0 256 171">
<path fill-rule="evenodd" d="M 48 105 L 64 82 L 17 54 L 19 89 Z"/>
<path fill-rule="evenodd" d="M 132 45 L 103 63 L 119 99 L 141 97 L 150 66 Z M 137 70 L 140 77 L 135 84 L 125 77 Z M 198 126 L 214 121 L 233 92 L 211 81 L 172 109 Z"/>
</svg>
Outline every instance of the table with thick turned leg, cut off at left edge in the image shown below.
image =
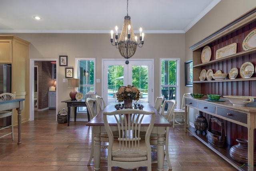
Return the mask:
<svg viewBox="0 0 256 171">
<path fill-rule="evenodd" d="M 0 111 L 14 109 L 18 111 L 18 144 L 21 144 L 21 111 L 25 99 L 0 99 Z"/>
</svg>

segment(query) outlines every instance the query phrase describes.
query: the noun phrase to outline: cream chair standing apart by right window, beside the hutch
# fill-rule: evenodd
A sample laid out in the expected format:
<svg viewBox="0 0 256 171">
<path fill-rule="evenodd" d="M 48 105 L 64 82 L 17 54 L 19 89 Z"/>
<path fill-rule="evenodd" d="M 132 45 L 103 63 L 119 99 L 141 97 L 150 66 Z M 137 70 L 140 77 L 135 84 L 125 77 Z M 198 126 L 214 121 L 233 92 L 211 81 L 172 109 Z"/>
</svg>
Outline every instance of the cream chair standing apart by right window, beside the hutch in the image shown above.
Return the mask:
<svg viewBox="0 0 256 171">
<path fill-rule="evenodd" d="M 190 93 L 185 93 L 182 97 L 182 105 L 180 109 L 174 109 L 173 118 L 172 118 L 172 127 L 174 125 L 184 125 L 185 122 L 185 97 L 190 97 Z M 188 112 L 188 111 L 187 111 Z"/>
</svg>

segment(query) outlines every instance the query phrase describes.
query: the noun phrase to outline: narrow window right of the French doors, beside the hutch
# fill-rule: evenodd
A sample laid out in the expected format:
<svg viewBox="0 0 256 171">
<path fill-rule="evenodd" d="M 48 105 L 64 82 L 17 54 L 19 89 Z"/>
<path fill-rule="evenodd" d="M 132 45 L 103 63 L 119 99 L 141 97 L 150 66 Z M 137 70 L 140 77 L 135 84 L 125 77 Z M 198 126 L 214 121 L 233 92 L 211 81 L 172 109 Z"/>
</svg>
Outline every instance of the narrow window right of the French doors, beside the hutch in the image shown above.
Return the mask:
<svg viewBox="0 0 256 171">
<path fill-rule="evenodd" d="M 178 103 L 178 63 L 176 59 L 161 60 L 161 94 L 164 99 L 175 99 Z"/>
</svg>

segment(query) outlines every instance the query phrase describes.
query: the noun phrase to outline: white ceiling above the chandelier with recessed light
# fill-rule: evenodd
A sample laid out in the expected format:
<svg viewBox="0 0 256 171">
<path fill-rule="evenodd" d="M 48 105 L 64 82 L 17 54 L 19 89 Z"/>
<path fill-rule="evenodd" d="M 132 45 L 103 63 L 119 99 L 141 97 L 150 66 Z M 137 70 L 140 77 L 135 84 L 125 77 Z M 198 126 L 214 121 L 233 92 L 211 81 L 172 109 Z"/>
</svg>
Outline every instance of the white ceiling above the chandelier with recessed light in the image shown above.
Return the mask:
<svg viewBox="0 0 256 171">
<path fill-rule="evenodd" d="M 185 33 L 220 0 L 129 0 L 134 32 Z M 0 33 L 110 33 L 126 0 L 0 0 Z M 40 16 L 35 20 L 33 16 Z"/>
</svg>

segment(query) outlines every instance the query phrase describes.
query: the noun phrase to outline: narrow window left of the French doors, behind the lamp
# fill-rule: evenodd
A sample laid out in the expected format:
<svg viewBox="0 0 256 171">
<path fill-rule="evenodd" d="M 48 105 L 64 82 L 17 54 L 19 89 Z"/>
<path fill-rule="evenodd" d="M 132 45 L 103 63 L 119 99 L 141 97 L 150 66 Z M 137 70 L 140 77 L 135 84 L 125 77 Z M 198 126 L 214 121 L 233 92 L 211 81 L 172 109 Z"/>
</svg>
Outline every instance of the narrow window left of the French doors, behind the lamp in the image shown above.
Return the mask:
<svg viewBox="0 0 256 171">
<path fill-rule="evenodd" d="M 78 78 L 80 79 L 80 87 L 78 92 L 85 95 L 89 91 L 95 91 L 95 60 L 94 59 L 79 59 Z M 78 107 L 78 112 L 86 111 L 86 107 Z"/>
</svg>

